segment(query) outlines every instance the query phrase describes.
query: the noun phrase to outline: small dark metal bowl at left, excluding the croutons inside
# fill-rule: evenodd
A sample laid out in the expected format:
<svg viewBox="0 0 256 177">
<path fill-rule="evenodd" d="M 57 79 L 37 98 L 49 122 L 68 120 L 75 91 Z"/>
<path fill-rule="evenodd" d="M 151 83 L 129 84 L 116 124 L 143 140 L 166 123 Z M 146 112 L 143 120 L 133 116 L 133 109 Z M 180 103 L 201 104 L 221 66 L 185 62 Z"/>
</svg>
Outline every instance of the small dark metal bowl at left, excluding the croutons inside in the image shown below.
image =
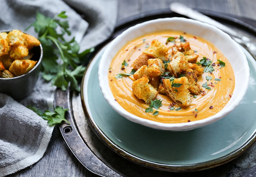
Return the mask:
<svg viewBox="0 0 256 177">
<path fill-rule="evenodd" d="M 0 32 L 10 32 L 12 30 L 2 30 Z M 22 31 L 23 33 L 26 33 Z M 26 33 L 28 34 L 28 33 Z M 31 34 L 29 34 L 31 35 Z M 37 64 L 28 73 L 14 78 L 0 78 L 0 92 L 11 96 L 15 100 L 26 98 L 32 91 L 37 82 L 41 61 L 43 57 L 43 48 L 40 44 L 31 49 L 34 55 L 31 60 L 37 61 Z"/>
</svg>

